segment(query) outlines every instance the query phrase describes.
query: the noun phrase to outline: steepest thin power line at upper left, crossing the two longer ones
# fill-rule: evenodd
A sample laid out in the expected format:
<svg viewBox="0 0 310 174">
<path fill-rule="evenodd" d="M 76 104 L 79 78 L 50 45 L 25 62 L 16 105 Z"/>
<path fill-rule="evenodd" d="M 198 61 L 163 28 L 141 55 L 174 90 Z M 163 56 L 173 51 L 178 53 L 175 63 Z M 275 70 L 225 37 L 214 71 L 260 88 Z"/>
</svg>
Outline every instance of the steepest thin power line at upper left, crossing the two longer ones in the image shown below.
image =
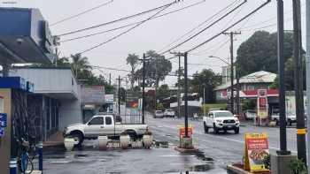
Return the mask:
<svg viewBox="0 0 310 174">
<path fill-rule="evenodd" d="M 143 22 L 141 22 L 141 23 L 139 23 L 139 24 L 136 24 L 136 26 L 130 27 L 128 30 L 126 30 L 126 31 L 124 31 L 124 32 L 122 32 L 122 33 L 120 33 L 120 34 L 117 34 L 116 36 L 112 37 L 111 39 L 109 39 L 109 40 L 107 40 L 107 41 L 105 41 L 105 42 L 99 43 L 99 44 L 97 44 L 96 46 L 91 47 L 90 49 L 85 49 L 85 50 L 81 51 L 81 52 L 78 53 L 78 54 L 83 54 L 83 53 L 85 53 L 85 52 L 89 52 L 90 50 L 92 50 L 92 49 L 97 49 L 98 47 L 101 47 L 101 46 L 105 45 L 105 44 L 108 43 L 108 42 L 112 42 L 113 40 L 119 38 L 121 35 L 127 34 L 128 32 L 130 32 L 131 30 L 135 29 L 136 27 L 141 26 L 143 23 L 145 23 L 146 21 L 150 20 L 152 17 L 158 15 L 161 11 L 165 11 L 169 6 L 171 6 L 172 4 L 175 4 L 175 3 L 176 3 L 176 1 L 175 1 L 174 3 L 171 3 L 171 4 L 167 4 L 167 6 L 166 6 L 165 8 L 163 8 L 163 9 L 161 9 L 160 11 L 156 12 L 155 14 L 151 15 L 150 18 L 144 20 Z"/>
</svg>

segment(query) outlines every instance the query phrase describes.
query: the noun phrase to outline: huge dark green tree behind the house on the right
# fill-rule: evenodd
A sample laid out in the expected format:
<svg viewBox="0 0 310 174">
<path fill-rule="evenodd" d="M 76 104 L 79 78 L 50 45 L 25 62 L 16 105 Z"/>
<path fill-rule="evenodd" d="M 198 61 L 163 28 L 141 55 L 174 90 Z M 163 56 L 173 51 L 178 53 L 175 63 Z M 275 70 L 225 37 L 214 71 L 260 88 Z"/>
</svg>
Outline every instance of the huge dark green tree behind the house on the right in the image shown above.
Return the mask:
<svg viewBox="0 0 310 174">
<path fill-rule="evenodd" d="M 285 60 L 292 56 L 293 34 L 284 34 Z M 277 72 L 277 34 L 258 31 L 237 49 L 236 71 L 241 76 L 252 72 Z"/>
</svg>

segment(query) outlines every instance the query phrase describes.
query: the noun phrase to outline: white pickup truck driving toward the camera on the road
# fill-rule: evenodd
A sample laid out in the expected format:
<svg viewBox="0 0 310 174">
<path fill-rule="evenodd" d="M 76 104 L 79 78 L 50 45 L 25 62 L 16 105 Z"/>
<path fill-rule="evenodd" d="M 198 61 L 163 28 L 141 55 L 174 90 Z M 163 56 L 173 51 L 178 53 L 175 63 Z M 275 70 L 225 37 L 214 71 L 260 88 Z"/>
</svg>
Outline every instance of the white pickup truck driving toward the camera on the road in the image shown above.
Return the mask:
<svg viewBox="0 0 310 174">
<path fill-rule="evenodd" d="M 209 132 L 209 129 L 213 129 L 214 134 L 229 130 L 233 130 L 236 134 L 239 133 L 239 119 L 234 117 L 229 110 L 210 111 L 204 117 L 203 122 L 205 133 Z"/>
</svg>

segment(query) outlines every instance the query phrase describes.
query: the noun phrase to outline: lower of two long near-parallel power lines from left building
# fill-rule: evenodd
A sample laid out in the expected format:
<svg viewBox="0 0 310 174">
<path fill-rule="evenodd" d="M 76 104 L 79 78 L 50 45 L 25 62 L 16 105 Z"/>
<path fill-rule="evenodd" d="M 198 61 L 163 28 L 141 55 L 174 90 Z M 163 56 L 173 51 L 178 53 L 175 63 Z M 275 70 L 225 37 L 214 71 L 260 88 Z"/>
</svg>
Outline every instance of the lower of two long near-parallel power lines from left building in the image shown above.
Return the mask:
<svg viewBox="0 0 310 174">
<path fill-rule="evenodd" d="M 198 5 L 198 4 L 202 4 L 202 3 L 205 3 L 205 0 L 199 1 L 198 3 L 195 3 L 195 4 L 190 4 L 190 5 L 188 5 L 188 6 L 182 7 L 182 8 L 180 8 L 180 9 L 177 9 L 177 10 L 174 10 L 174 11 L 166 12 L 166 13 L 164 13 L 164 14 L 161 14 L 161 15 L 159 15 L 159 16 L 153 17 L 153 18 L 151 18 L 151 19 L 158 19 L 158 18 L 160 18 L 160 17 L 167 16 L 168 14 L 172 14 L 172 13 L 174 13 L 174 12 L 182 11 L 182 10 L 188 9 L 188 8 L 190 8 L 190 7 L 193 7 L 193 6 L 196 6 L 196 5 Z M 114 27 L 114 28 L 109 29 L 109 30 L 97 32 L 97 33 L 94 33 L 94 34 L 86 34 L 86 35 L 82 35 L 82 36 L 79 36 L 79 37 L 74 37 L 74 38 L 67 39 L 67 40 L 60 41 L 60 42 L 70 42 L 70 41 L 80 40 L 80 39 L 87 38 L 87 37 L 94 36 L 94 35 L 98 35 L 98 34 L 105 34 L 105 33 L 112 32 L 112 31 L 116 31 L 116 30 L 119 30 L 119 29 L 122 29 L 122 28 L 125 28 L 125 27 L 128 27 L 128 26 L 134 26 L 134 25 L 136 25 L 136 24 L 138 24 L 138 23 L 141 23 L 141 22 L 143 22 L 143 21 L 144 21 L 144 20 L 140 20 L 140 21 L 138 21 L 138 22 L 130 23 L 130 24 L 127 24 L 127 25 L 124 25 L 124 26 L 118 26 L 118 27 Z"/>
</svg>

